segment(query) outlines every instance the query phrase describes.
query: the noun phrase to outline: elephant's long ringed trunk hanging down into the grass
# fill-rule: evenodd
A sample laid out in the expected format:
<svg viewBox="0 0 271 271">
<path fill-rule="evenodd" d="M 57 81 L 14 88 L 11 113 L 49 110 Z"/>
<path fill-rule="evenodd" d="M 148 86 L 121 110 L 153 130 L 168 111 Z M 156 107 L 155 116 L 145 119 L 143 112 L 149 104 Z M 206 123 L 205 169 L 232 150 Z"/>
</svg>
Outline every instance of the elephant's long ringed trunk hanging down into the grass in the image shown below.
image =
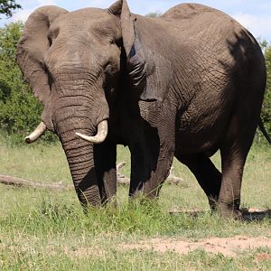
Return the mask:
<svg viewBox="0 0 271 271">
<path fill-rule="evenodd" d="M 76 133 L 95 138 L 99 135 L 98 125 L 109 117 L 103 78 L 71 64 L 64 68 L 54 73 L 53 87 L 58 90 L 59 97 L 54 101 L 52 122 L 67 156 L 80 203 L 84 208 L 88 204 L 97 206 L 101 200 L 93 142 L 83 140 Z"/>
</svg>

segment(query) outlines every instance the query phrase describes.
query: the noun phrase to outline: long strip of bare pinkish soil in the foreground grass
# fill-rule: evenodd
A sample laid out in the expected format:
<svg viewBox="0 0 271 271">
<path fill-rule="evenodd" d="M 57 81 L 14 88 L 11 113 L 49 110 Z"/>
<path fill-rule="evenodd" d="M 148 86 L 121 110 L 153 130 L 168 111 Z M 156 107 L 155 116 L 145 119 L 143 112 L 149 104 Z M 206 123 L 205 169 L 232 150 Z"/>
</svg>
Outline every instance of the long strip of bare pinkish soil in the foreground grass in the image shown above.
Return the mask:
<svg viewBox="0 0 271 271">
<path fill-rule="evenodd" d="M 187 241 L 175 238 L 152 238 L 143 240 L 136 244 L 122 244 L 119 246 L 122 250 L 140 249 L 164 253 L 166 251 L 174 251 L 179 254 L 187 254 L 195 249 L 203 249 L 210 253 L 221 253 L 224 256 L 234 257 L 238 252 L 245 249 L 254 249 L 259 247 L 271 248 L 271 238 L 206 238 L 197 242 Z M 270 254 L 266 254 L 268 259 L 271 259 Z"/>
</svg>

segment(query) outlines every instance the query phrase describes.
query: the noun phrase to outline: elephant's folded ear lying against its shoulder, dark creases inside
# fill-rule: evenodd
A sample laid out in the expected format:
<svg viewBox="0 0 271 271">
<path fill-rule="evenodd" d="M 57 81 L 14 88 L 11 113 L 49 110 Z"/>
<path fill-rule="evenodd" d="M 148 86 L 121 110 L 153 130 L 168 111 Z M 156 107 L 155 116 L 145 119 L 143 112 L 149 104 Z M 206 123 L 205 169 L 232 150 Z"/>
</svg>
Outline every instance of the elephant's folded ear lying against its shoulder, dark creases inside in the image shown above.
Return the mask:
<svg viewBox="0 0 271 271">
<path fill-rule="evenodd" d="M 108 11 L 120 17 L 127 72 L 133 88 L 141 91 L 140 99 L 144 101 L 163 101 L 171 81 L 164 74 L 171 74 L 171 63 L 141 41 L 135 14 L 130 13 L 126 0 L 117 1 Z"/>
</svg>

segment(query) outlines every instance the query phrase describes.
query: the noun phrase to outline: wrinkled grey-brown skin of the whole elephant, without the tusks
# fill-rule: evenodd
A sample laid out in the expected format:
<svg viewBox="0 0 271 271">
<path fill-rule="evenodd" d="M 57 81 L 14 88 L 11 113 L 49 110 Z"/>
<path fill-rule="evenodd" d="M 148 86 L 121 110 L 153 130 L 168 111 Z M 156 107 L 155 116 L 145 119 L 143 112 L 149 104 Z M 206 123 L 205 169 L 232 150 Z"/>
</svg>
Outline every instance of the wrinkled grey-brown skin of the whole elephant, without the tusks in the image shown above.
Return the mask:
<svg viewBox="0 0 271 271">
<path fill-rule="evenodd" d="M 266 68 L 256 40 L 227 14 L 196 4 L 159 18 L 130 14 L 126 1 L 72 13 L 44 6 L 25 25 L 17 62 L 83 206 L 116 194 L 119 144 L 131 152 L 130 196 L 155 198 L 175 155 L 212 209 L 238 217 Z M 105 119 L 100 145 L 75 135 L 95 135 Z M 222 173 L 209 158 L 219 149 Z"/>
</svg>

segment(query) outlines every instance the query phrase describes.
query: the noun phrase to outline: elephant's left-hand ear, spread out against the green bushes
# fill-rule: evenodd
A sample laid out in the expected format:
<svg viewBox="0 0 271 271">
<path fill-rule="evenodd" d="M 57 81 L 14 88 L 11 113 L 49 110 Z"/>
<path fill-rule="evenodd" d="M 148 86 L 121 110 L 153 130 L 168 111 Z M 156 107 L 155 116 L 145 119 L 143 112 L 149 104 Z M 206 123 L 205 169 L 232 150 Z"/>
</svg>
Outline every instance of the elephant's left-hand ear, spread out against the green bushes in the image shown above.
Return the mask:
<svg viewBox="0 0 271 271">
<path fill-rule="evenodd" d="M 24 24 L 23 35 L 17 44 L 16 61 L 34 96 L 39 98 L 44 107 L 51 94 L 44 65 L 44 54 L 50 47 L 48 32 L 51 23 L 66 13 L 66 10 L 53 5 L 36 9 Z M 48 115 L 48 112 L 43 111 L 42 115 Z"/>
</svg>

